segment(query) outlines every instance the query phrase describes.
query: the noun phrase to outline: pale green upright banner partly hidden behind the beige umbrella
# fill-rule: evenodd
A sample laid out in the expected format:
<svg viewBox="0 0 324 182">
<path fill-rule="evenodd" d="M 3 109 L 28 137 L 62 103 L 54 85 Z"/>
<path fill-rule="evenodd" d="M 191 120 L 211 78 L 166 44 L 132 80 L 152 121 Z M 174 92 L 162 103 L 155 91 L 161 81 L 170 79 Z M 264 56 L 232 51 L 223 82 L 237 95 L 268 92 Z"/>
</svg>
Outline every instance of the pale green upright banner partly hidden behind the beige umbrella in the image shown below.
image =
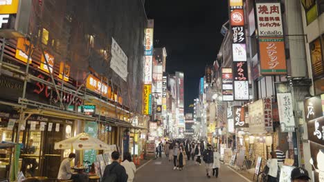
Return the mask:
<svg viewBox="0 0 324 182">
<path fill-rule="evenodd" d="M 87 121 L 84 125 L 84 132 L 86 132 L 92 137 L 97 138 L 98 123 Z M 96 156 L 97 156 L 96 150 L 84 150 L 83 162 L 89 161 L 89 165 L 91 165 L 94 161 L 96 161 Z"/>
</svg>

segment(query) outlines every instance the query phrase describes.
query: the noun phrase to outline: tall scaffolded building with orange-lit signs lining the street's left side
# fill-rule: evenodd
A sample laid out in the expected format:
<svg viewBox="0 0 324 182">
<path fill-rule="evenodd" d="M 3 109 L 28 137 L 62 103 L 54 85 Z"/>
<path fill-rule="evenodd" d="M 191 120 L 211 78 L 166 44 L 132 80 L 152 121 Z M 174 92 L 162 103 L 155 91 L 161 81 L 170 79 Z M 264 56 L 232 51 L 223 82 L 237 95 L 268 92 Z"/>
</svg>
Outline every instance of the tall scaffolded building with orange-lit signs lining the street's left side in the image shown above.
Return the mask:
<svg viewBox="0 0 324 182">
<path fill-rule="evenodd" d="M 147 128 L 138 97 L 143 2 L 24 0 L 0 6 L 1 17 L 8 17 L 0 26 L 0 135 L 23 144 L 19 171 L 56 177 L 71 150 L 54 150 L 54 143 L 80 132 L 139 154 Z M 28 155 L 30 145 L 36 150 Z M 78 154 L 96 160 L 94 150 Z M 28 157 L 37 163 L 29 172 Z"/>
</svg>

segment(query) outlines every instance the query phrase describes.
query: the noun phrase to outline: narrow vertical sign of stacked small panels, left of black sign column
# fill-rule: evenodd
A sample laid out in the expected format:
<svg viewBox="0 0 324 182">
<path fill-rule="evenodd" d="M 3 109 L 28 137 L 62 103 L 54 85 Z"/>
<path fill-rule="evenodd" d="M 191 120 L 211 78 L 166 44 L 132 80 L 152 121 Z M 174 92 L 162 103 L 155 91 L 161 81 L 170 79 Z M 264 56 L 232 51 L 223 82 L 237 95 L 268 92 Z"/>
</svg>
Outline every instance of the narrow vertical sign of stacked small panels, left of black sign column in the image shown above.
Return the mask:
<svg viewBox="0 0 324 182">
<path fill-rule="evenodd" d="M 222 68 L 222 97 L 223 101 L 233 101 L 233 71 Z"/>
</svg>

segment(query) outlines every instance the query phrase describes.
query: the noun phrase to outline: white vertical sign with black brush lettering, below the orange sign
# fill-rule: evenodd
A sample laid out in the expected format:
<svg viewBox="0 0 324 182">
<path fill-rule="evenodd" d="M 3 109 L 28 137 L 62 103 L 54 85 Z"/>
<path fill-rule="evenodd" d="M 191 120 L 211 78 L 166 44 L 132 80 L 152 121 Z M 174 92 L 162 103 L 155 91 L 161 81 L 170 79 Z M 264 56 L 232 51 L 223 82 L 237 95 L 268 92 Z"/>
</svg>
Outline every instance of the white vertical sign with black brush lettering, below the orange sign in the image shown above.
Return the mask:
<svg viewBox="0 0 324 182">
<path fill-rule="evenodd" d="M 278 93 L 277 99 L 281 132 L 294 132 L 295 120 L 291 93 Z"/>
</svg>

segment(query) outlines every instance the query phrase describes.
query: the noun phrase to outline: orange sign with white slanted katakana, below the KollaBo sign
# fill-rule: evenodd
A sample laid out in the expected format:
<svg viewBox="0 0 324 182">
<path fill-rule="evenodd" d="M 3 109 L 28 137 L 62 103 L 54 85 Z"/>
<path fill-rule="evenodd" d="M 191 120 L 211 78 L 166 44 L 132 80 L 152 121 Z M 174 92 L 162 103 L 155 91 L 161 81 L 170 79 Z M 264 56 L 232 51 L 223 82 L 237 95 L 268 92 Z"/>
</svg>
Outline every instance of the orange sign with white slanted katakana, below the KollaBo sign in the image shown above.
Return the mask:
<svg viewBox="0 0 324 182">
<path fill-rule="evenodd" d="M 261 74 L 286 74 L 285 43 L 283 37 L 260 38 Z"/>
</svg>

